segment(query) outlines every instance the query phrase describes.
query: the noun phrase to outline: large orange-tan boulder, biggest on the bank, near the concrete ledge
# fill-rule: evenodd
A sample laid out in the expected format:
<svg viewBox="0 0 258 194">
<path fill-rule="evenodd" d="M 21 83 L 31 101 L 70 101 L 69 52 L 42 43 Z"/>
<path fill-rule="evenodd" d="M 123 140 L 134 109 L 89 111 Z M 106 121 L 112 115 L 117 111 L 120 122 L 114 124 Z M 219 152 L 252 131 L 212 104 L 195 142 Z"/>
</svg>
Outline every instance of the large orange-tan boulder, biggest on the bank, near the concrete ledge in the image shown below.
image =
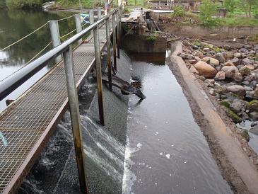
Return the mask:
<svg viewBox="0 0 258 194">
<path fill-rule="evenodd" d="M 204 76 L 205 78 L 213 78 L 217 74 L 217 70 L 206 62 L 199 61 L 197 64 L 194 64 L 194 67 L 199 72 L 199 75 Z"/>
</svg>

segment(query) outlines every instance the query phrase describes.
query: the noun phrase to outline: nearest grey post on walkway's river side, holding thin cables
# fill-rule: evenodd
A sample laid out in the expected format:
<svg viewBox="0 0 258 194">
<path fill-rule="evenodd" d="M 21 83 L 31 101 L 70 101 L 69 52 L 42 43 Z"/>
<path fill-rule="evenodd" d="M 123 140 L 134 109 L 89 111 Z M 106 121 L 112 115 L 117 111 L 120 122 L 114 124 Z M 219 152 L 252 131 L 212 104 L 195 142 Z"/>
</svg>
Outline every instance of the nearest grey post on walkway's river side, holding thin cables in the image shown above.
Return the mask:
<svg viewBox="0 0 258 194">
<path fill-rule="evenodd" d="M 53 47 L 57 47 L 61 44 L 58 21 L 49 21 L 49 28 L 52 38 Z M 61 61 L 61 55 L 55 59 L 56 63 Z"/>
</svg>

